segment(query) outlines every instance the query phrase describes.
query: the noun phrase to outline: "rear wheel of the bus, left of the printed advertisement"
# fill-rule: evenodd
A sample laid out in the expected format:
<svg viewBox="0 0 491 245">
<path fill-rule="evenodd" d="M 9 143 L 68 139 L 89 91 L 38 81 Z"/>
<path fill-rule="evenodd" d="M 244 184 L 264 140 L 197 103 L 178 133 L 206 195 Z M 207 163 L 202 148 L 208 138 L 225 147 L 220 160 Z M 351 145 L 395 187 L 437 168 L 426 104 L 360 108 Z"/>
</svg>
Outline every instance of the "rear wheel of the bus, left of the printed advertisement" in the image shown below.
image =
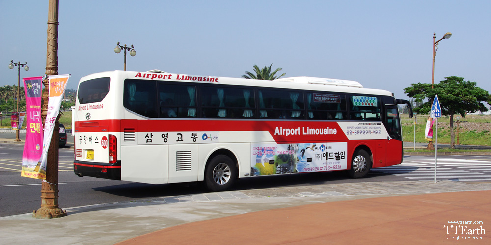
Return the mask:
<svg viewBox="0 0 491 245">
<path fill-rule="evenodd" d="M 235 184 L 237 176 L 237 167 L 230 157 L 225 155 L 215 156 L 206 166 L 206 188 L 213 192 L 225 191 Z"/>
</svg>

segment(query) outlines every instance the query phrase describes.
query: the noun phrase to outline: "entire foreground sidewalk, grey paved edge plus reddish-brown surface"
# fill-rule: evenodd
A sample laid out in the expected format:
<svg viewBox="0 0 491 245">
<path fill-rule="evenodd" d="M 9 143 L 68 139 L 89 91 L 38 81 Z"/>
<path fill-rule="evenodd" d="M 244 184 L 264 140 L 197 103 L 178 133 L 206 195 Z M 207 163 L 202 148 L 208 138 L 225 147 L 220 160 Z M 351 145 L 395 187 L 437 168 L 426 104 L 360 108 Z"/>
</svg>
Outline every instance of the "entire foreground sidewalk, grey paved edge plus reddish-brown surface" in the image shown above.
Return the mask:
<svg viewBox="0 0 491 245">
<path fill-rule="evenodd" d="M 482 221 L 467 228 L 486 235 L 469 237 L 490 244 L 490 209 L 491 183 L 322 184 L 74 207 L 51 220 L 1 217 L 0 244 L 447 244 L 449 221 Z"/>
</svg>

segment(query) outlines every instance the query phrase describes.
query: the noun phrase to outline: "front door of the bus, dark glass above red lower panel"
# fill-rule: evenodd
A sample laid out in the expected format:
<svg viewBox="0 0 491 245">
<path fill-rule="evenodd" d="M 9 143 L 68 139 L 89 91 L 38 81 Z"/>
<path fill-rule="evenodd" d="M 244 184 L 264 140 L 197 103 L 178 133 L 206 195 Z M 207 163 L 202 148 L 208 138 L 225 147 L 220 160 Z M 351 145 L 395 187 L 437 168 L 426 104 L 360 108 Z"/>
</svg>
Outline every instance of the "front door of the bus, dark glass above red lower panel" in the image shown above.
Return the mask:
<svg viewBox="0 0 491 245">
<path fill-rule="evenodd" d="M 385 128 L 387 129 L 387 146 L 385 166 L 402 162 L 402 131 L 397 105 L 385 105 Z"/>
</svg>

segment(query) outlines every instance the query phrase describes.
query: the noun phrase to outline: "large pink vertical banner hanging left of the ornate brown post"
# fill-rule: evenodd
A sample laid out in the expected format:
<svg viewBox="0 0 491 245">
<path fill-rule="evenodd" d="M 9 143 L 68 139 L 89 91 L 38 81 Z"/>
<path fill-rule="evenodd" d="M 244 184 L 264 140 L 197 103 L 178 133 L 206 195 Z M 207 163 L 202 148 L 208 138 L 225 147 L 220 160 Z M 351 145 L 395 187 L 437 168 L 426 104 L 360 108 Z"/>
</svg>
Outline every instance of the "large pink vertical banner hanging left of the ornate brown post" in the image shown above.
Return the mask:
<svg viewBox="0 0 491 245">
<path fill-rule="evenodd" d="M 43 124 L 41 120 L 41 82 L 42 77 L 24 78 L 26 93 L 26 142 L 22 154 L 21 176 L 29 178 L 42 177 L 35 171 L 43 153 Z M 46 176 L 46 175 L 45 175 Z"/>
</svg>

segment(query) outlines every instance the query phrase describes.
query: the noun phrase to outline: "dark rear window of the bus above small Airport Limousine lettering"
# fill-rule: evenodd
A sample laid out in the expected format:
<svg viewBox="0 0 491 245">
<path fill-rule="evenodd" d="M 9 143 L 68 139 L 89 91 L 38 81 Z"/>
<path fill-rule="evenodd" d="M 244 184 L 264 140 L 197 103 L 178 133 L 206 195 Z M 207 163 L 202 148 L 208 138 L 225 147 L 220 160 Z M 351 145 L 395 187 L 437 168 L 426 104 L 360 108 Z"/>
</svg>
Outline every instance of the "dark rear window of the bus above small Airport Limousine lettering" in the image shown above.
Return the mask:
<svg viewBox="0 0 491 245">
<path fill-rule="evenodd" d="M 80 104 L 101 102 L 109 92 L 109 77 L 102 77 L 80 83 L 77 98 Z"/>
</svg>

